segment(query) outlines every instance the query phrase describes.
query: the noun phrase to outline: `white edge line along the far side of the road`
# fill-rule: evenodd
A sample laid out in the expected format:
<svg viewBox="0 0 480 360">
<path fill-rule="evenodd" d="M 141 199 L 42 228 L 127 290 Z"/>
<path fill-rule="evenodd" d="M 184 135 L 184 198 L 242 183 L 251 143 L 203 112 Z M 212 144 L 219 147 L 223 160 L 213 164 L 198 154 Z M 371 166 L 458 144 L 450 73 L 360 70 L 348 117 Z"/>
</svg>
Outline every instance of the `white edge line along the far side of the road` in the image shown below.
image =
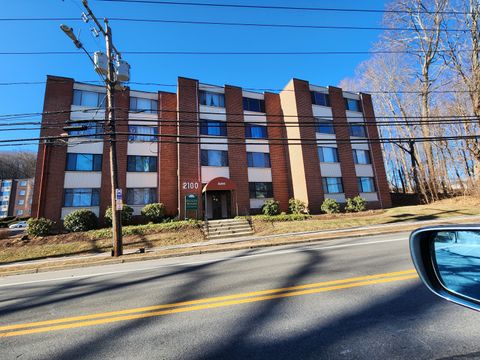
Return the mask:
<svg viewBox="0 0 480 360">
<path fill-rule="evenodd" d="M 407 237 L 407 239 L 408 239 L 408 237 Z M 96 276 L 114 275 L 114 274 L 122 274 L 122 273 L 134 273 L 134 272 L 140 272 L 140 271 L 149 271 L 149 270 L 161 269 L 161 268 L 165 268 L 165 267 L 184 267 L 184 266 L 191 266 L 191 265 L 214 263 L 214 262 L 224 261 L 224 260 L 238 261 L 238 260 L 244 260 L 244 259 L 253 258 L 253 257 L 283 255 L 283 254 L 289 254 L 289 253 L 304 252 L 305 250 L 308 250 L 308 249 L 313 249 L 313 250 L 326 249 L 326 250 L 329 250 L 329 249 L 337 249 L 337 248 L 344 248 L 344 247 L 354 247 L 354 246 L 364 246 L 364 245 L 389 243 L 389 242 L 402 241 L 402 240 L 403 241 L 406 240 L 405 236 L 403 236 L 401 238 L 395 238 L 395 239 L 389 239 L 389 240 L 367 241 L 367 242 L 354 243 L 354 244 L 340 244 L 340 245 L 327 245 L 327 246 L 321 246 L 321 245 L 320 246 L 308 246 L 308 245 L 305 246 L 304 245 L 304 246 L 302 246 L 300 248 L 296 248 L 296 249 L 272 250 L 272 251 L 269 251 L 269 252 L 266 252 L 266 253 L 251 254 L 251 255 L 244 255 L 244 256 L 238 256 L 238 257 L 225 257 L 225 258 L 218 258 L 218 259 L 213 259 L 213 260 L 192 261 L 192 262 L 186 262 L 186 263 L 181 263 L 181 264 L 157 265 L 157 266 L 146 267 L 146 268 L 141 268 L 141 269 L 115 270 L 115 271 L 106 271 L 106 272 L 95 273 L 95 274 L 71 275 L 71 276 L 64 276 L 64 277 L 53 278 L 53 279 L 41 279 L 41 280 L 23 281 L 23 282 L 18 282 L 18 283 L 11 283 L 11 284 L 0 284 L 0 288 L 1 287 L 8 287 L 8 286 L 35 284 L 35 283 L 42 283 L 42 282 L 49 282 L 49 281 L 74 280 L 74 279 L 83 279 L 83 278 L 90 278 L 90 277 L 96 277 Z M 336 240 L 332 240 L 332 241 L 336 241 Z M 131 263 L 123 263 L 123 264 L 131 264 Z M 123 264 L 115 264 L 115 265 L 123 265 Z M 66 271 L 68 271 L 68 270 L 72 270 L 72 269 L 67 269 Z M 13 275 L 13 276 L 15 276 L 15 275 Z M 1 278 L 0 278 L 0 281 L 1 281 Z"/>
</svg>

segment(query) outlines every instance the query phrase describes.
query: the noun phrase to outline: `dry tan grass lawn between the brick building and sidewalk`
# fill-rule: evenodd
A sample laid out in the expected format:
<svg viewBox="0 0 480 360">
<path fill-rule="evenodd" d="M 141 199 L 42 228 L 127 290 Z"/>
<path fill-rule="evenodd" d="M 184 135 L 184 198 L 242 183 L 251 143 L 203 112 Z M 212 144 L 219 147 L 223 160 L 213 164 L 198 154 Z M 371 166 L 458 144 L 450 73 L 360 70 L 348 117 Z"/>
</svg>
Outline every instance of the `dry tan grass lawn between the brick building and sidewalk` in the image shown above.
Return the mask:
<svg viewBox="0 0 480 360">
<path fill-rule="evenodd" d="M 253 217 L 257 235 L 313 230 L 344 229 L 375 224 L 394 224 L 435 220 L 452 216 L 480 215 L 480 198 L 457 197 L 429 205 L 403 206 L 357 214 L 314 215 L 301 221 L 265 221 Z M 124 248 L 138 249 L 203 241 L 199 224 L 179 221 L 124 227 Z M 21 240 L 20 236 L 0 238 L 0 264 L 22 260 L 68 255 L 91 255 L 109 252 L 112 247 L 109 229 L 84 233 L 52 235 Z"/>
</svg>

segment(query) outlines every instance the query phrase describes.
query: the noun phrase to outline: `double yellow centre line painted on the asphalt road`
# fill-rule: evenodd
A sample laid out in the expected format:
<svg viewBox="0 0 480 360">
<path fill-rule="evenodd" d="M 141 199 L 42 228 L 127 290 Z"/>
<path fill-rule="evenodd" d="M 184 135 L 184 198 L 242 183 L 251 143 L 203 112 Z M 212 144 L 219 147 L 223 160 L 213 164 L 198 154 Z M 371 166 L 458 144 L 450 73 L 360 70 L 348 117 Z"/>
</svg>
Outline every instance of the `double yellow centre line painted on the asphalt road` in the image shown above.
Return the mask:
<svg viewBox="0 0 480 360">
<path fill-rule="evenodd" d="M 146 306 L 134 309 L 110 311 L 75 317 L 37 321 L 24 324 L 0 326 L 0 337 L 20 336 L 48 331 L 73 329 L 84 326 L 108 324 L 153 316 L 177 314 L 189 311 L 220 308 L 225 306 L 253 303 L 286 297 L 316 294 L 321 292 L 349 289 L 359 286 L 382 284 L 417 278 L 415 270 L 404 270 L 384 274 L 354 277 L 342 280 L 324 281 L 312 284 L 290 286 L 279 289 L 253 291 L 241 294 L 217 296 L 172 304 Z"/>
</svg>

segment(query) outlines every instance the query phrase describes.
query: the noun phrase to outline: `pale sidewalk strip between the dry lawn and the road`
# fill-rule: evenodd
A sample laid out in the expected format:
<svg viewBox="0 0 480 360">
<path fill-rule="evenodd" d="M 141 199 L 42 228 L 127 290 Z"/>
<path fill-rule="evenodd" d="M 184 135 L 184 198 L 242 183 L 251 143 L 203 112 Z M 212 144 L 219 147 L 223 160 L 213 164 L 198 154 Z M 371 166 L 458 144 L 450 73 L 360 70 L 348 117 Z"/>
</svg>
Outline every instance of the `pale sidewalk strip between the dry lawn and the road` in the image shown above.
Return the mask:
<svg viewBox="0 0 480 360">
<path fill-rule="evenodd" d="M 171 245 L 146 250 L 144 254 L 137 251 L 125 251 L 121 258 L 112 258 L 110 253 L 95 255 L 65 256 L 42 260 L 21 261 L 0 265 L 0 276 L 37 273 L 41 271 L 59 270 L 72 267 L 85 267 L 102 264 L 116 264 L 131 261 L 151 260 L 158 258 L 197 255 L 208 252 L 260 248 L 278 245 L 292 245 L 314 241 L 325 241 L 352 238 L 367 235 L 380 235 L 412 231 L 416 228 L 440 224 L 461 224 L 480 222 L 480 216 L 459 216 L 438 220 L 409 221 L 394 224 L 369 225 L 338 230 L 318 230 L 284 233 L 266 236 L 246 236 L 238 238 L 216 239 L 190 244 Z"/>
</svg>

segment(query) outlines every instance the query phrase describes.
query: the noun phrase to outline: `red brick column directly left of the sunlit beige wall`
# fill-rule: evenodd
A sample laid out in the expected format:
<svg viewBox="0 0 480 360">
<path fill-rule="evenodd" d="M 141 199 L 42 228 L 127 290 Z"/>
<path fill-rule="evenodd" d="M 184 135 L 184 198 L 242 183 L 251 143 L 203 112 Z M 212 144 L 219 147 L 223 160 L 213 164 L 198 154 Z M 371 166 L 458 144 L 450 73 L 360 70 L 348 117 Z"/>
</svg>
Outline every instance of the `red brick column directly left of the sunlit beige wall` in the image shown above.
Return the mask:
<svg viewBox="0 0 480 360">
<path fill-rule="evenodd" d="M 265 112 L 267 113 L 268 137 L 285 139 L 285 123 L 283 119 L 280 96 L 265 93 Z M 292 197 L 290 182 L 290 166 L 288 162 L 288 146 L 279 141 L 270 142 L 270 163 L 272 166 L 273 197 L 280 203 L 280 211 L 288 211 L 288 200 Z"/>
</svg>

